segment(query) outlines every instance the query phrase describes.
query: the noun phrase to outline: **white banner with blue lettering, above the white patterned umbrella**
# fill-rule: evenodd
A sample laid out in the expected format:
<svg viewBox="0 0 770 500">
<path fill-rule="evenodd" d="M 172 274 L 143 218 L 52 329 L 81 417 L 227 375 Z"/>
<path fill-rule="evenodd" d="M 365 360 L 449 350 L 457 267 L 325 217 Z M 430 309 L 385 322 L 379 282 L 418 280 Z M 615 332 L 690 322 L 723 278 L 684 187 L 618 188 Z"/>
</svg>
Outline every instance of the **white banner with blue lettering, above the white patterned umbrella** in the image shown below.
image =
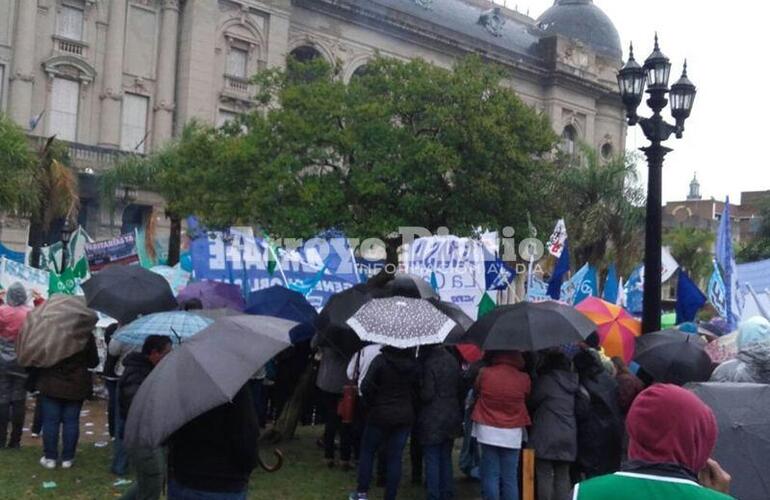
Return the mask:
<svg viewBox="0 0 770 500">
<path fill-rule="evenodd" d="M 471 238 L 431 236 L 409 245 L 406 271 L 430 280 L 436 275 L 441 300 L 459 306 L 475 319 L 486 290 L 483 244 Z"/>
</svg>

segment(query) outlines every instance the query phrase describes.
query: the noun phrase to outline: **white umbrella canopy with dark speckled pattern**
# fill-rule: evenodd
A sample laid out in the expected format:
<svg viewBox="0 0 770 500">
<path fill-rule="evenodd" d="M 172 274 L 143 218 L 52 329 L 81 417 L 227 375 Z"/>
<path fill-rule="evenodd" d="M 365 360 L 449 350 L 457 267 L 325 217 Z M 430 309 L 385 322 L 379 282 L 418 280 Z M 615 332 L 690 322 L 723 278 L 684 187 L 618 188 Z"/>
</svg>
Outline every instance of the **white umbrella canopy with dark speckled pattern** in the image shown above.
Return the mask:
<svg viewBox="0 0 770 500">
<path fill-rule="evenodd" d="M 348 325 L 361 340 L 404 349 L 440 344 L 456 323 L 426 300 L 389 297 L 364 304 Z"/>
</svg>

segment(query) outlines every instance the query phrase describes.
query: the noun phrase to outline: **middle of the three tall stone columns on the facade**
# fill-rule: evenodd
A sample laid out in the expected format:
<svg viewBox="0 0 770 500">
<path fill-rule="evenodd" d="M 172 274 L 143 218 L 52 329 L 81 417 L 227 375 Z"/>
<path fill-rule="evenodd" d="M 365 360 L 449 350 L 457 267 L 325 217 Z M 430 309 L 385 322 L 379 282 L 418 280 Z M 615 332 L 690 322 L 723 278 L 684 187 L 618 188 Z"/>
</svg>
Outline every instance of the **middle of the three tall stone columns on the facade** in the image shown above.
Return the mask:
<svg viewBox="0 0 770 500">
<path fill-rule="evenodd" d="M 111 0 L 102 78 L 99 145 L 120 147 L 120 117 L 123 101 L 123 44 L 126 38 L 126 0 Z"/>
</svg>

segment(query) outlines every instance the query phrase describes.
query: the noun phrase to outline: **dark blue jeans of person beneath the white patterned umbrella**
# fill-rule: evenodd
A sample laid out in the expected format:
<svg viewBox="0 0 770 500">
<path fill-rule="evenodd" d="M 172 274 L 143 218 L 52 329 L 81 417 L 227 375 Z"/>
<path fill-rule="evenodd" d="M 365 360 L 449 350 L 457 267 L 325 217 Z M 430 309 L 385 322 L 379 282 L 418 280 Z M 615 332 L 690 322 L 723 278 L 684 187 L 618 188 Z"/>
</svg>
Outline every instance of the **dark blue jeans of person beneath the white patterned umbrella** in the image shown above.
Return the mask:
<svg viewBox="0 0 770 500">
<path fill-rule="evenodd" d="M 401 458 L 409 438 L 409 427 L 384 429 L 367 424 L 361 438 L 361 454 L 358 463 L 358 492 L 368 493 L 372 483 L 374 456 L 384 446 L 387 458 L 385 500 L 395 500 L 401 482 Z"/>
</svg>

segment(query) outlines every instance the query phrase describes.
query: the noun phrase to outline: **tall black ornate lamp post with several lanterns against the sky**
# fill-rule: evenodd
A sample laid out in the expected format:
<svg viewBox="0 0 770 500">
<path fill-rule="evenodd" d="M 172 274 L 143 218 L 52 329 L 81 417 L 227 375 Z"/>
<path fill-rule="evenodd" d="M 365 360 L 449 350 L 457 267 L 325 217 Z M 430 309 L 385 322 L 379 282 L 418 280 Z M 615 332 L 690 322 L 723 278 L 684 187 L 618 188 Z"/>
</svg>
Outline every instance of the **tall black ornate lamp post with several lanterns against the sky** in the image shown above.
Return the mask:
<svg viewBox="0 0 770 500">
<path fill-rule="evenodd" d="M 671 62 L 663 55 L 655 35 L 655 49 L 650 57 L 640 66 L 634 59 L 634 47 L 631 46 L 628 61 L 618 71 L 618 86 L 626 108 L 628 124 L 637 123 L 642 127 L 644 136 L 650 145 L 641 148 L 647 157 L 649 176 L 647 181 L 647 218 L 645 222 L 644 247 L 644 312 L 642 330 L 644 333 L 660 330 L 661 313 L 661 232 L 662 232 L 662 184 L 663 159 L 671 149 L 662 143 L 675 134 L 682 138 L 684 122 L 690 116 L 695 100 L 695 85 L 687 78 L 687 62 L 684 63 L 682 77 L 668 87 L 671 74 Z M 646 93 L 647 105 L 653 114 L 650 118 L 637 115 L 636 110 Z M 666 94 L 671 94 L 671 116 L 676 120 L 670 125 L 660 112 L 669 103 Z"/>
</svg>

